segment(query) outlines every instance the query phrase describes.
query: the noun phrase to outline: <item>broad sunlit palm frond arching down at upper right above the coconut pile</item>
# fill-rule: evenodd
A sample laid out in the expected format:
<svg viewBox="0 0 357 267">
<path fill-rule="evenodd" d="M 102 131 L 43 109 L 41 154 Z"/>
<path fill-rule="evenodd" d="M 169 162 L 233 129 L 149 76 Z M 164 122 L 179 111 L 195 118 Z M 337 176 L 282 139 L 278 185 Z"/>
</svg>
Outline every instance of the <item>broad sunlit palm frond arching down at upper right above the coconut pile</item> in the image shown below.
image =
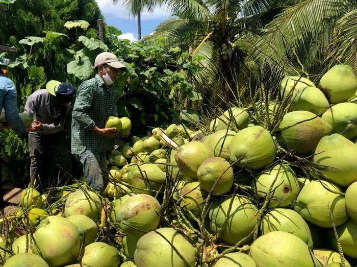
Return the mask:
<svg viewBox="0 0 357 267">
<path fill-rule="evenodd" d="M 312 43 L 323 34 L 331 34 L 334 23 L 352 8 L 352 2 L 304 0 L 286 8 L 267 25 L 253 57 L 263 67 L 278 62 L 285 65 L 287 74 L 294 74 L 297 70 L 294 66 L 298 65 L 292 62 L 296 51 L 299 49 L 300 55 L 308 55 Z"/>
</svg>

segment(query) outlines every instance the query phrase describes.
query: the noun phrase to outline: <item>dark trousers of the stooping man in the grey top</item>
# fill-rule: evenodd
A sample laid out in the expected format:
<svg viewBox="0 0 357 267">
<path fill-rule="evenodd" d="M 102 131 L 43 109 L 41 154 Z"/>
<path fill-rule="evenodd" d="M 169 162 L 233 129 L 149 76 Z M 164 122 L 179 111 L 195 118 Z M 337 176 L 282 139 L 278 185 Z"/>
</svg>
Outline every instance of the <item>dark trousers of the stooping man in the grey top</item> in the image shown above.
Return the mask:
<svg viewBox="0 0 357 267">
<path fill-rule="evenodd" d="M 64 132 L 52 135 L 30 133 L 29 151 L 32 185 L 40 183 L 39 188 L 49 188 L 67 184 L 72 165 Z"/>
</svg>

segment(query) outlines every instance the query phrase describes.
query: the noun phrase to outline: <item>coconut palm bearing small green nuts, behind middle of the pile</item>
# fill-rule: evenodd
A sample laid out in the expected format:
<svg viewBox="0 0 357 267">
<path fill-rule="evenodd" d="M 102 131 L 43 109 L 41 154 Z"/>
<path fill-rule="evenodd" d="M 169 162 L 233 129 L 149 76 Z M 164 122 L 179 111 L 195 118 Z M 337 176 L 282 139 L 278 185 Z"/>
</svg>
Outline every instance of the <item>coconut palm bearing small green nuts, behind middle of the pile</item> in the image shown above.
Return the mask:
<svg viewBox="0 0 357 267">
<path fill-rule="evenodd" d="M 164 40 L 168 47 L 183 51 L 193 48 L 193 60 L 201 61 L 202 71 L 195 77 L 199 88 L 219 88 L 223 97 L 231 97 L 248 75 L 246 60 L 249 41 L 282 7 L 277 0 L 161 0 L 173 17 L 157 27 L 148 41 Z M 216 91 L 217 92 L 217 91 Z M 220 96 L 222 96 L 220 95 Z"/>
</svg>

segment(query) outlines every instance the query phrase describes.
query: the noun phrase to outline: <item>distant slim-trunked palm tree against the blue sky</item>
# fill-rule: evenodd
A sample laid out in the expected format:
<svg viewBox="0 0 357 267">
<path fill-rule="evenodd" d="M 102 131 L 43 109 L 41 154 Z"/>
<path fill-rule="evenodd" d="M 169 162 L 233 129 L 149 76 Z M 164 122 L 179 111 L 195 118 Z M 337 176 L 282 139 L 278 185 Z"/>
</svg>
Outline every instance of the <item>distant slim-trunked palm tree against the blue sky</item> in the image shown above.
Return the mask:
<svg viewBox="0 0 357 267">
<path fill-rule="evenodd" d="M 137 17 L 138 20 L 138 39 L 141 39 L 141 14 L 144 9 L 152 11 L 155 7 L 156 0 L 113 0 L 113 3 L 122 2 L 124 9 L 130 14 Z"/>
</svg>

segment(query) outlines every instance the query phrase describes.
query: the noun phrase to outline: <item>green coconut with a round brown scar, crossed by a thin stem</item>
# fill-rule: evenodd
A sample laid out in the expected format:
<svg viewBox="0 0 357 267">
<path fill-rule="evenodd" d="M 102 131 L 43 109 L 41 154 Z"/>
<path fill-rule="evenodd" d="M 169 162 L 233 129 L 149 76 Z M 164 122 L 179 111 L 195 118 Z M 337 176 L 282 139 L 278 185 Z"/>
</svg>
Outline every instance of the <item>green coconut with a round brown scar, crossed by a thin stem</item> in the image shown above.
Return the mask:
<svg viewBox="0 0 357 267">
<path fill-rule="evenodd" d="M 295 172 L 288 165 L 283 164 L 276 165 L 270 172 L 263 173 L 256 180 L 259 195 L 265 197 L 273 182 L 272 198 L 268 208 L 291 206 L 300 191 Z"/>
</svg>

